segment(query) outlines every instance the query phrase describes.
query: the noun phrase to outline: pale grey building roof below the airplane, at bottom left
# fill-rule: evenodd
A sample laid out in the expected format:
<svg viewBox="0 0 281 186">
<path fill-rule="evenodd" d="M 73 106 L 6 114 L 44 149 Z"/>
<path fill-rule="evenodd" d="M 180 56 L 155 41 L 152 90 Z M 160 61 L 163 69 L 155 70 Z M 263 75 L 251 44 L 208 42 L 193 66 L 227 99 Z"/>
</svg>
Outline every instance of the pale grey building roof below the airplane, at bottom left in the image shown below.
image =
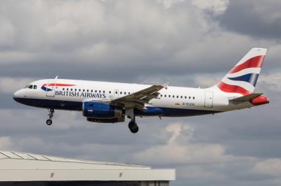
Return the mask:
<svg viewBox="0 0 281 186">
<path fill-rule="evenodd" d="M 0 181 L 175 180 L 174 169 L 0 150 Z"/>
</svg>

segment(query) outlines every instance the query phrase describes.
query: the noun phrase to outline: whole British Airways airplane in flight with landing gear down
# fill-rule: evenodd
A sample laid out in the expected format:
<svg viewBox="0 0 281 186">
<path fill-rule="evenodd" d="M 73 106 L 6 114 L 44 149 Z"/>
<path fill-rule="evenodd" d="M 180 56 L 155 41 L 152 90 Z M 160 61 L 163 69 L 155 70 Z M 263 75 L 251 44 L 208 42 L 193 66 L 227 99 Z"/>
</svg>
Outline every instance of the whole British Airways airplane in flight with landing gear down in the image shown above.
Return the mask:
<svg viewBox="0 0 281 186">
<path fill-rule="evenodd" d="M 89 122 L 115 123 L 130 119 L 138 132 L 136 117 L 187 117 L 223 113 L 269 103 L 254 93 L 266 48 L 252 48 L 223 79 L 209 88 L 168 87 L 89 80 L 37 80 L 13 94 L 15 101 L 48 109 L 46 124 L 54 110 L 81 111 Z"/>
</svg>

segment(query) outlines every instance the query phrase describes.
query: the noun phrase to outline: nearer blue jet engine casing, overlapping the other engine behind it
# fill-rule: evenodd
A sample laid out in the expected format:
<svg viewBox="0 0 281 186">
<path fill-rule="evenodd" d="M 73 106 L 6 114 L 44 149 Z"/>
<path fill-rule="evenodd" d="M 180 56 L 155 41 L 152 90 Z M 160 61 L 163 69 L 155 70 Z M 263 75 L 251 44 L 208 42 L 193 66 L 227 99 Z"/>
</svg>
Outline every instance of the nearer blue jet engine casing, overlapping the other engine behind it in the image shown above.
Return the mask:
<svg viewBox="0 0 281 186">
<path fill-rule="evenodd" d="M 118 118 L 123 117 L 122 108 L 108 103 L 86 101 L 83 103 L 83 115 L 91 118 Z"/>
</svg>

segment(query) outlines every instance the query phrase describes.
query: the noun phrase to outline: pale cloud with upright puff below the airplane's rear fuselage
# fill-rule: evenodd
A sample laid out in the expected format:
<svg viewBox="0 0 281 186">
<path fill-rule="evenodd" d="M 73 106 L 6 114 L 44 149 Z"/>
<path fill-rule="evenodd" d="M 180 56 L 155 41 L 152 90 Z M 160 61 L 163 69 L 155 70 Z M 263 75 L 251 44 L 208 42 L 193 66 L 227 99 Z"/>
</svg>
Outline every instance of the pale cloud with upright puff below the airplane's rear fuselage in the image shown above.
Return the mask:
<svg viewBox="0 0 281 186">
<path fill-rule="evenodd" d="M 183 130 L 189 131 L 188 141 L 178 144 L 177 138 Z M 215 143 L 192 143 L 190 139 L 193 129 L 188 125 L 170 124 L 166 131 L 172 133 L 166 145 L 155 145 L 134 155 L 138 162 L 150 162 L 152 164 L 217 164 L 232 162 L 239 157 L 226 154 L 223 145 Z M 242 159 L 240 159 L 241 161 Z M 250 161 L 250 157 L 244 157 L 245 161 Z"/>
</svg>

